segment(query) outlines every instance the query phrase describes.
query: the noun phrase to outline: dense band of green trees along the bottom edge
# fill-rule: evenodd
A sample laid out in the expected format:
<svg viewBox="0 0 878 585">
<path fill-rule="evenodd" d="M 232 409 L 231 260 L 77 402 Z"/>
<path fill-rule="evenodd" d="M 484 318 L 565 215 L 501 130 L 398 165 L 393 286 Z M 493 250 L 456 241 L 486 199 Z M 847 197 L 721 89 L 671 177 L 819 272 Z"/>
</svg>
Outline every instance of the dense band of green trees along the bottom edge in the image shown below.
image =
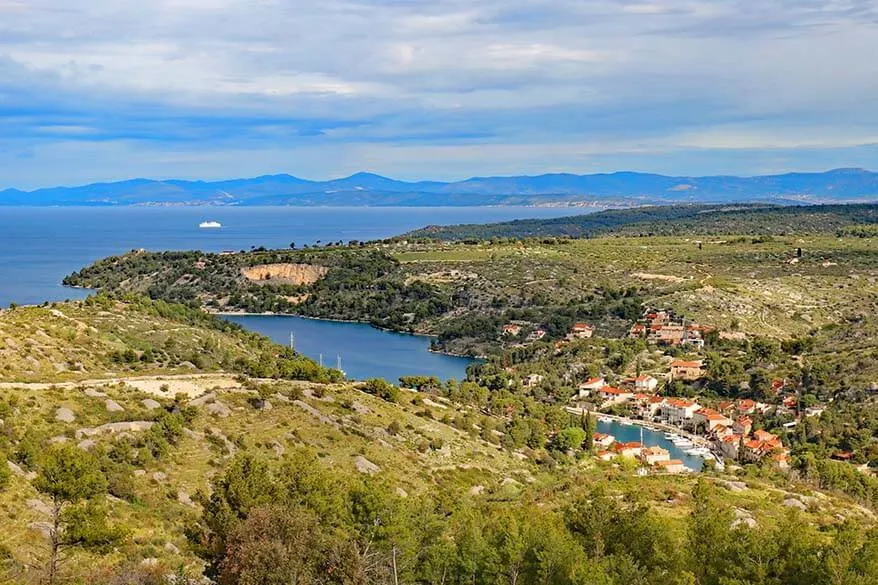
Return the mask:
<svg viewBox="0 0 878 585">
<path fill-rule="evenodd" d="M 219 583 L 870 583 L 878 532 L 818 531 L 795 514 L 735 524 L 698 482 L 691 511 L 662 520 L 637 498 L 572 489 L 555 506 L 450 493 L 400 498 L 381 481 L 234 461 L 213 482 L 191 538 Z"/>
</svg>

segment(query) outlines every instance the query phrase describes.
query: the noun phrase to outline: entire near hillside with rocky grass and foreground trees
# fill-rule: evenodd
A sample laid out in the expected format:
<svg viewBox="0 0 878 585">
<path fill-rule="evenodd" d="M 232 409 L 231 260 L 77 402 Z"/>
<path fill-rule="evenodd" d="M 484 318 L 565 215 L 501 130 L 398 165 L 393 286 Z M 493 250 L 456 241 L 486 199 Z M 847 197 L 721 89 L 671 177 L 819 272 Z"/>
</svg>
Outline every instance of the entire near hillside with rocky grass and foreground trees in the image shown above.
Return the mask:
<svg viewBox="0 0 878 585">
<path fill-rule="evenodd" d="M 0 372 L 10 582 L 45 576 L 47 493 L 79 493 L 43 481 L 58 456 L 71 481 L 101 478 L 60 517 L 65 582 L 869 583 L 878 569 L 859 499 L 755 467 L 637 477 L 553 446 L 572 421 L 502 392 L 233 373 L 220 356 L 234 366 L 270 344 L 142 300 L 16 308 L 0 329 L 33 352 Z M 162 337 L 174 351 L 154 365 L 112 357 Z M 37 366 L 64 359 L 88 371 Z M 757 552 L 764 564 L 737 561 Z"/>
</svg>

